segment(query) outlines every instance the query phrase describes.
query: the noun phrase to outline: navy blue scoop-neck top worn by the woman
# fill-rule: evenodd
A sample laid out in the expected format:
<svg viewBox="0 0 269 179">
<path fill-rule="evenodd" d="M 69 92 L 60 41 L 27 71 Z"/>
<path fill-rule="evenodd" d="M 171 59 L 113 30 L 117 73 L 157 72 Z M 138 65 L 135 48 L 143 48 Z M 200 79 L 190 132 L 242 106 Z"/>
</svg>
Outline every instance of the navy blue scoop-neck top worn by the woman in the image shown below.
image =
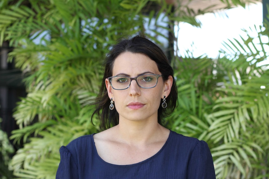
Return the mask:
<svg viewBox="0 0 269 179">
<path fill-rule="evenodd" d="M 213 159 L 204 141 L 171 131 L 154 156 L 135 164 L 115 165 L 97 153 L 93 134 L 60 148 L 56 179 L 215 179 Z"/>
</svg>

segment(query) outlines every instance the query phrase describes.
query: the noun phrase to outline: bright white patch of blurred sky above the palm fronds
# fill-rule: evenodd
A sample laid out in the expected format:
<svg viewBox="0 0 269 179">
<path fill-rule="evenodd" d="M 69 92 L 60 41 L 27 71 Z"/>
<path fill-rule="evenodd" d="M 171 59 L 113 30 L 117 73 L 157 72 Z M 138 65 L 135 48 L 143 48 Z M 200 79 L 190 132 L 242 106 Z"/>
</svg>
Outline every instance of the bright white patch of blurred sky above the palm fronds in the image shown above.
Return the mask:
<svg viewBox="0 0 269 179">
<path fill-rule="evenodd" d="M 207 54 L 210 58 L 216 58 L 218 51 L 224 48 L 223 41 L 233 38 L 239 40 L 240 34 L 245 35 L 241 29 L 249 30 L 254 25 L 262 25 L 262 2 L 246 8 L 236 7 L 215 14 L 199 15 L 197 19 L 202 23 L 201 28 L 187 23 L 179 24 L 179 54 L 185 56 L 184 51 L 189 49 L 193 52 L 193 57 Z"/>
</svg>

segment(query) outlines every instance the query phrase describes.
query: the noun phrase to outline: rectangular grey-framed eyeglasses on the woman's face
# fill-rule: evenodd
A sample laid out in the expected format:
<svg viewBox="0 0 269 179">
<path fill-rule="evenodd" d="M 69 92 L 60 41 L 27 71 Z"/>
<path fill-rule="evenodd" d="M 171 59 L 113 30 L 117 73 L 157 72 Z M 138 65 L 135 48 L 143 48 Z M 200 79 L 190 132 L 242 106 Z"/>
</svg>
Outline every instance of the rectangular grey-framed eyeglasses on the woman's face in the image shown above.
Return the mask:
<svg viewBox="0 0 269 179">
<path fill-rule="evenodd" d="M 159 77 L 163 77 L 163 75 L 143 74 L 135 78 L 120 75 L 109 77 L 108 80 L 113 89 L 124 90 L 130 87 L 132 80 L 135 80 L 141 88 L 154 88 L 157 85 Z"/>
</svg>

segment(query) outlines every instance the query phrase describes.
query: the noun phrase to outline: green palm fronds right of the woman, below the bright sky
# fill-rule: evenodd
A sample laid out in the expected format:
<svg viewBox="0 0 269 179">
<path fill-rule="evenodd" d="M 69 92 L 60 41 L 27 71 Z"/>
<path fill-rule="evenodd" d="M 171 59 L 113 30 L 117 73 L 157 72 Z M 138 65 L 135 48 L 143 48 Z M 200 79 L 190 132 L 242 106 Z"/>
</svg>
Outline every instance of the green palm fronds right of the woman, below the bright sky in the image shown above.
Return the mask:
<svg viewBox="0 0 269 179">
<path fill-rule="evenodd" d="M 171 129 L 208 142 L 217 178 L 268 178 L 268 29 L 224 42 L 218 59 L 178 62 Z M 257 32 L 257 36 L 250 36 Z"/>
</svg>

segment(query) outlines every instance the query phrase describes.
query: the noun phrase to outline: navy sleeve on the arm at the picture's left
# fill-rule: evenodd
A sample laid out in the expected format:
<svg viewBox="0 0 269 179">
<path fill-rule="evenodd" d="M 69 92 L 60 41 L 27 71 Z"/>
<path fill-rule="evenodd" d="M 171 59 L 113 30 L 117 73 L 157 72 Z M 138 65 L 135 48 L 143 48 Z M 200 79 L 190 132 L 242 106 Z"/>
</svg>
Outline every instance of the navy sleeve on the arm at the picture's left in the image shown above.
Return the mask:
<svg viewBox="0 0 269 179">
<path fill-rule="evenodd" d="M 56 179 L 75 179 L 78 178 L 76 163 L 72 159 L 69 150 L 62 146 L 60 148 L 61 161 L 56 172 Z"/>
</svg>

